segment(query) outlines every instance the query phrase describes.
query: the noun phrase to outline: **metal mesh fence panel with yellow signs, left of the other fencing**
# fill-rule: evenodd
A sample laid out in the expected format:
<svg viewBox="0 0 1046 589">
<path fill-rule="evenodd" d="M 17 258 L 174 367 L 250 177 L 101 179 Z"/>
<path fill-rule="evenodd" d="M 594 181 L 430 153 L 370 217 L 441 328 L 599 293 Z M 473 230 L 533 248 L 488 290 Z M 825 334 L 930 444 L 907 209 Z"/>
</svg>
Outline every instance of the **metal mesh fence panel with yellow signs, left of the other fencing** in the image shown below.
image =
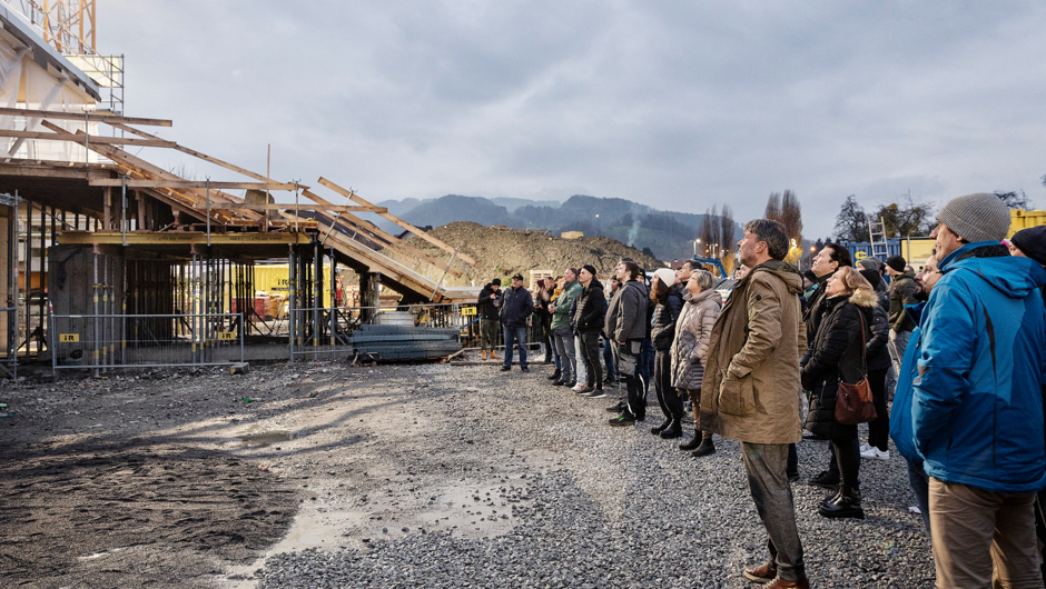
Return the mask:
<svg viewBox="0 0 1046 589">
<path fill-rule="evenodd" d="M 244 361 L 239 313 L 51 315 L 51 368 L 224 366 Z"/>
</svg>

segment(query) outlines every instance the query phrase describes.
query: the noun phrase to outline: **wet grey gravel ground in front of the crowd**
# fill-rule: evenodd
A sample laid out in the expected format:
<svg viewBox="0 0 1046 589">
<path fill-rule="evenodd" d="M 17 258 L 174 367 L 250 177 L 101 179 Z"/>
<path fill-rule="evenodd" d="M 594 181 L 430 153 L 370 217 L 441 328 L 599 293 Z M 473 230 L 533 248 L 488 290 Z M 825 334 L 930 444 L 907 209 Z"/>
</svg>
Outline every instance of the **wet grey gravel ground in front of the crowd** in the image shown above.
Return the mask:
<svg viewBox="0 0 1046 589">
<path fill-rule="evenodd" d="M 182 491 L 182 505 L 228 497 L 229 472 L 254 473 L 251 505 L 225 509 L 229 521 L 249 516 L 241 521 L 257 529 L 235 550 L 223 537 L 217 550 L 186 543 L 185 530 L 171 526 L 177 520 L 144 518 L 139 527 L 158 530 L 151 543 L 139 539 L 119 552 L 127 547 L 108 540 L 111 527 L 98 527 L 93 543 L 79 541 L 79 557 L 59 558 L 32 547 L 41 536 L 50 535 L 50 546 L 61 537 L 60 512 L 41 532 L 39 522 L 27 523 L 39 509 L 3 509 L 0 538 L 18 541 L 0 545 L 0 558 L 31 552 L 38 560 L 23 559 L 20 573 L 0 568 L 0 585 L 128 586 L 114 581 L 120 571 L 130 575 L 136 561 L 154 562 L 174 546 L 179 558 L 168 556 L 162 570 L 134 585 L 751 587 L 741 569 L 767 558 L 766 535 L 738 445 L 717 438 L 716 455 L 693 459 L 675 448 L 679 440 L 651 436 L 660 422 L 652 392 L 647 422 L 608 427 L 604 408 L 614 399 L 550 387 L 549 369 L 532 367 L 523 375 L 491 366 L 299 363 L 237 377 L 154 372 L 145 382 L 6 389 L 0 400 L 19 413 L 0 423 L 4 497 L 23 469 L 11 465 L 33 445 L 79 445 L 82 457 L 83 445 L 132 438 L 134 452 L 174 460 L 170 468 L 210 457 L 197 470 L 211 477 L 213 497 L 198 492 L 197 477 L 187 480 L 196 492 Z M 117 460 L 119 448 L 107 448 Z M 802 481 L 792 487 L 811 585 L 931 587 L 929 543 L 908 511 L 914 500 L 899 457 L 862 463 L 862 521 L 817 515 L 827 491 L 806 479 L 827 457 L 825 442 L 800 443 Z M 97 472 L 72 476 L 87 481 Z M 79 492 L 73 482 L 62 492 Z M 49 492 L 59 490 L 40 486 L 37 503 Z M 85 509 L 85 501 L 70 509 Z M 121 566 L 107 569 L 117 556 Z"/>
</svg>

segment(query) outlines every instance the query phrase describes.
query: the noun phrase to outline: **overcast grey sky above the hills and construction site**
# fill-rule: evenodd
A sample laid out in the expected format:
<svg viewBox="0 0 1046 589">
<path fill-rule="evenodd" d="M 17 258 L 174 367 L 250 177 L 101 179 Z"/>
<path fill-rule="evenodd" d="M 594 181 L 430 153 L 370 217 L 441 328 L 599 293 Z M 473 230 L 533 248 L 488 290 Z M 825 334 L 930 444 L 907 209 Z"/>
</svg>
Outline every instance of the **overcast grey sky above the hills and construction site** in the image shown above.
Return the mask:
<svg viewBox="0 0 1046 589">
<path fill-rule="evenodd" d="M 282 181 L 729 202 L 742 222 L 792 189 L 809 238 L 848 194 L 1046 204 L 1044 31 L 1030 0 L 98 2 L 128 116 L 260 172 L 272 143 Z"/>
</svg>

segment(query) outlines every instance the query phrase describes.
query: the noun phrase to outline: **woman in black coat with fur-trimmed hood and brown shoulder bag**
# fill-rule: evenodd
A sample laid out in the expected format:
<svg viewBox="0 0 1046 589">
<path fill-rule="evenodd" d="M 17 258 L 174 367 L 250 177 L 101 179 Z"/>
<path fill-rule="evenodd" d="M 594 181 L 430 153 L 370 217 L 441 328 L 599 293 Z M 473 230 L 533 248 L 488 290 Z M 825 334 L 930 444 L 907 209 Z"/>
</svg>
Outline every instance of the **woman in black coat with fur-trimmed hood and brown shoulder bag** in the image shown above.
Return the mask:
<svg viewBox="0 0 1046 589">
<path fill-rule="evenodd" d="M 806 427 L 830 440 L 841 481 L 839 490 L 821 502 L 818 512 L 826 518 L 864 519 L 857 426 L 836 421 L 836 396 L 840 380 L 856 383 L 865 377 L 865 346 L 871 339 L 879 299 L 857 270 L 842 267 L 828 280 L 822 305 L 821 322 L 800 362 L 800 377 L 802 388 L 810 391 Z"/>
</svg>

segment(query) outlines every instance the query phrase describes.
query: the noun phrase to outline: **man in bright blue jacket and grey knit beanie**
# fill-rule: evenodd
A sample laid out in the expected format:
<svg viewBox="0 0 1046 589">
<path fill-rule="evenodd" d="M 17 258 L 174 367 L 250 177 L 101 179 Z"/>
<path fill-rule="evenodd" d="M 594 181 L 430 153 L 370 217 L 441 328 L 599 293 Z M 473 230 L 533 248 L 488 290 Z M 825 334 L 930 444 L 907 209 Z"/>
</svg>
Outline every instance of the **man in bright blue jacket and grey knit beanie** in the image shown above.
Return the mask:
<svg viewBox="0 0 1046 589">
<path fill-rule="evenodd" d="M 937 213 L 944 276 L 922 311 L 911 425 L 929 480 L 937 587 L 1042 587 L 1035 492 L 1046 483 L 1042 385 L 1046 270 L 1005 257 L 995 194 Z M 994 569 L 994 571 L 993 571 Z"/>
</svg>

